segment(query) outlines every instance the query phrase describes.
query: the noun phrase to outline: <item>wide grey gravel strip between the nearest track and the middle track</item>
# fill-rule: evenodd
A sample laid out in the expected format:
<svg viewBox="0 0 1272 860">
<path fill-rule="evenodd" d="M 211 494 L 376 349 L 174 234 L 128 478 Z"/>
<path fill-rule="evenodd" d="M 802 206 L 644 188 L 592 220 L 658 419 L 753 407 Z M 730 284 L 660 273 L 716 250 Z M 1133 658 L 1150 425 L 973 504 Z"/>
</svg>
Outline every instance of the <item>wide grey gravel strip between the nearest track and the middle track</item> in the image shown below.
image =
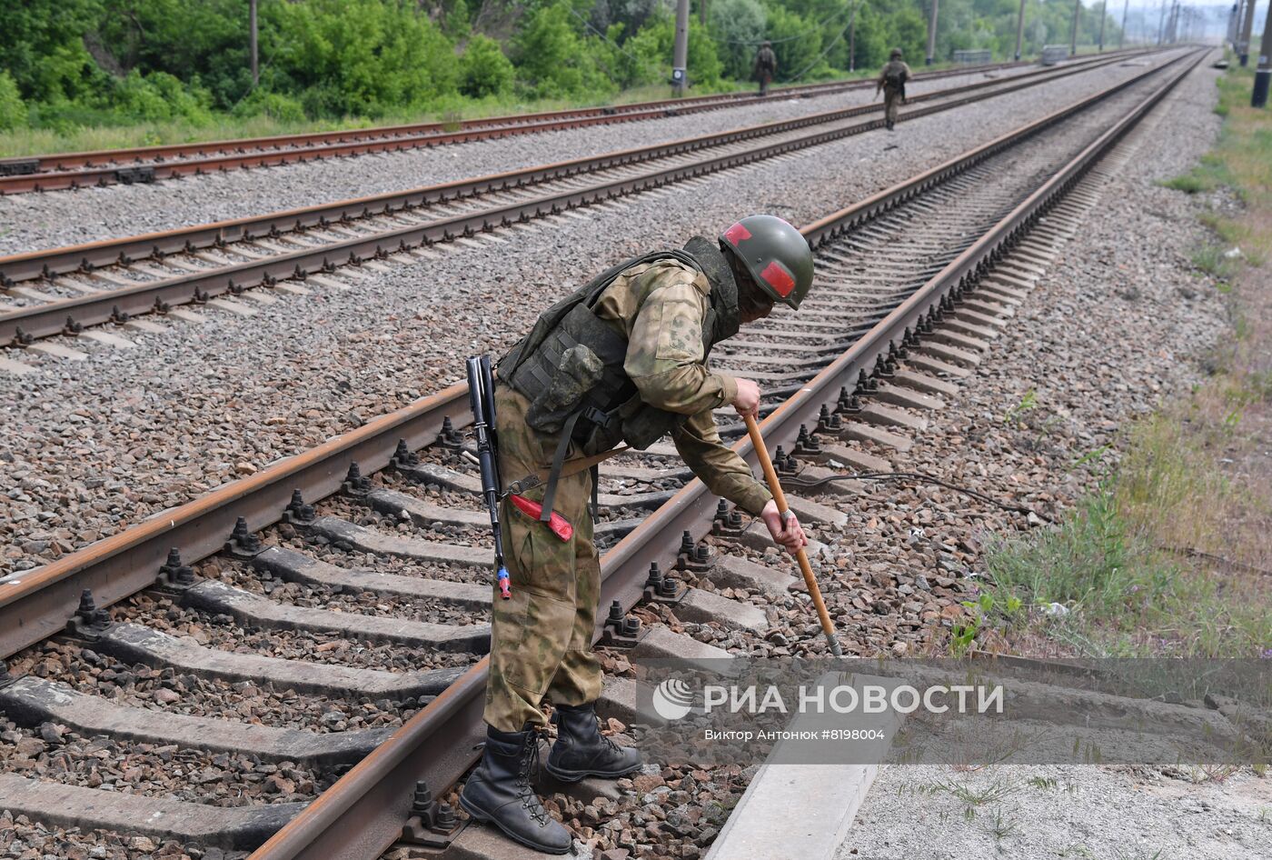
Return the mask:
<svg viewBox="0 0 1272 860">
<path fill-rule="evenodd" d="M 252 318 L 209 309 L 204 326 L 121 331 L 134 350 L 78 338 L 67 342 L 89 350 L 81 363 L 22 356 L 37 373 L 0 375 L 13 403 L 0 448 L 0 571 L 37 566 L 455 382 L 466 355 L 501 354 L 598 265 L 714 234 L 749 211 L 812 221 L 1107 83 L 1077 75 L 516 228 L 488 247 L 450 246 L 436 261 L 368 272 L 349 291 L 315 286 Z"/>
</svg>

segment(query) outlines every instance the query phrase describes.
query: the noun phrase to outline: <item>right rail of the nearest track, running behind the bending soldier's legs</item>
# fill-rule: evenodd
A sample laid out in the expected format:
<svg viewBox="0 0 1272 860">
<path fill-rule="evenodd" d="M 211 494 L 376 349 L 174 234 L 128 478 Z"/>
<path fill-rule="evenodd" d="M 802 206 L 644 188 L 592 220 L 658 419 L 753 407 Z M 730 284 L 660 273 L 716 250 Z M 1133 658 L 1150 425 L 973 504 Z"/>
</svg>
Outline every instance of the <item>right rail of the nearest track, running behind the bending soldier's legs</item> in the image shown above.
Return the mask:
<svg viewBox="0 0 1272 860">
<path fill-rule="evenodd" d="M 1166 81 L 1137 108 L 1100 135 L 1061 170 L 1021 201 L 1006 218 L 951 261 L 901 307 L 879 322 L 860 341 L 804 385 L 761 424 L 766 440 L 794 439 L 800 424 L 813 424 L 820 407 L 834 399 L 841 385 L 852 385 L 857 373 L 866 370 L 875 359 L 899 342 L 906 328 L 939 308 L 940 302 L 960 295 L 972 285 L 986 265 L 1002 249 L 1014 244 L 1038 218 L 1051 209 L 1085 172 L 1127 134 L 1138 120 L 1158 104 L 1193 67 L 1198 59 L 1179 75 Z M 847 210 L 846 210 L 847 211 Z M 822 244 L 846 226 L 823 219 L 804 228 L 810 243 Z M 756 454 L 748 436 L 734 447 L 752 467 Z M 706 486 L 693 480 L 665 505 L 623 538 L 602 558 L 602 603 L 619 600 L 630 609 L 641 597 L 649 564 L 670 565 L 675 558 L 678 533 L 688 531 L 701 537 L 710 528 L 715 513 L 714 497 Z M 669 569 L 669 567 L 668 567 Z M 469 719 L 477 720 L 468 738 L 480 738 L 476 704 L 482 700 L 488 658 L 464 673 L 448 690 L 457 696 L 467 693 L 473 701 Z M 379 856 L 401 833 L 408 818 L 411 790 L 417 780 L 426 780 L 434 790 L 453 785 L 467 767 L 457 765 L 448 754 L 439 761 L 429 754 L 445 748 L 446 739 L 458 734 L 459 705 L 449 697 L 443 706 L 425 706 L 371 756 L 364 758 L 345 777 L 318 796 L 295 819 L 253 852 L 249 860 L 370 860 Z M 453 752 L 445 748 L 446 752 Z M 468 766 L 477 759 L 469 752 Z M 359 791 L 369 791 L 369 799 Z"/>
</svg>

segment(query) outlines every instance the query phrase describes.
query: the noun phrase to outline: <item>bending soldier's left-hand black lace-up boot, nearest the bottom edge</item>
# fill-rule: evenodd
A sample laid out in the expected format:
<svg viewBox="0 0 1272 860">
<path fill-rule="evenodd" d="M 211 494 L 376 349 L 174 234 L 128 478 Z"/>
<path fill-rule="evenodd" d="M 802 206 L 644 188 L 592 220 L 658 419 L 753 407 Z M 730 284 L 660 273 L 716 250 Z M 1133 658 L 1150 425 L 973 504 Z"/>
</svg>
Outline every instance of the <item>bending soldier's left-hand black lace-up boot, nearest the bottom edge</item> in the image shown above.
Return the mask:
<svg viewBox="0 0 1272 860">
<path fill-rule="evenodd" d="M 487 726 L 486 752 L 464 784 L 459 805 L 522 845 L 544 854 L 565 854 L 572 841 L 570 832 L 547 813 L 530 786 L 538 765 L 536 732 L 499 732 Z"/>
</svg>

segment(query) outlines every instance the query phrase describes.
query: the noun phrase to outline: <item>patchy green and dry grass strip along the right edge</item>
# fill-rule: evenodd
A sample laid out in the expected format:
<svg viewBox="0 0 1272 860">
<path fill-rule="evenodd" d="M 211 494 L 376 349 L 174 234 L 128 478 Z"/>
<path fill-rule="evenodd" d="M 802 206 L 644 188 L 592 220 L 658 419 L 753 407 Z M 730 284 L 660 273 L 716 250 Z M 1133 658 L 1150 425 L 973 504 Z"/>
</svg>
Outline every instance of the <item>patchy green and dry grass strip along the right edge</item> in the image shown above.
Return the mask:
<svg viewBox="0 0 1272 860">
<path fill-rule="evenodd" d="M 1252 81 L 1250 69 L 1220 79 L 1216 146 L 1164 183 L 1241 204 L 1205 216 L 1212 239 L 1192 257 L 1198 280 L 1227 296 L 1231 337 L 1188 399 L 1130 429 L 1119 464 L 1058 529 L 988 552 L 995 585 L 978 613 L 1007 641 L 1040 632 L 1091 656 L 1272 656 L 1272 111 L 1249 107 Z M 1039 612 L 1051 603 L 1068 613 Z"/>
</svg>

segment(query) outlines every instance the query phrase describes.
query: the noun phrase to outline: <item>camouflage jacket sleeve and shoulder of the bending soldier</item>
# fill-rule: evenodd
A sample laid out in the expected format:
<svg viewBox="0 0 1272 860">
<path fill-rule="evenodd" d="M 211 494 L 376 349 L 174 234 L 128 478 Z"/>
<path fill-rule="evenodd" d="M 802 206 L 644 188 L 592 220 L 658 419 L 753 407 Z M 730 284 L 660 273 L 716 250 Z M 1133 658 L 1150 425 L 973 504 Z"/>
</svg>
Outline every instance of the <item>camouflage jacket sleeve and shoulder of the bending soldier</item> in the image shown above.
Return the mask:
<svg viewBox="0 0 1272 860">
<path fill-rule="evenodd" d="M 707 489 L 750 514 L 772 499 L 750 467 L 720 440 L 711 410 L 731 403 L 736 380 L 707 368 L 702 324 L 711 284 L 678 260 L 623 270 L 593 312 L 627 338 L 623 370 L 645 403 L 689 419 L 672 434 Z"/>
</svg>

